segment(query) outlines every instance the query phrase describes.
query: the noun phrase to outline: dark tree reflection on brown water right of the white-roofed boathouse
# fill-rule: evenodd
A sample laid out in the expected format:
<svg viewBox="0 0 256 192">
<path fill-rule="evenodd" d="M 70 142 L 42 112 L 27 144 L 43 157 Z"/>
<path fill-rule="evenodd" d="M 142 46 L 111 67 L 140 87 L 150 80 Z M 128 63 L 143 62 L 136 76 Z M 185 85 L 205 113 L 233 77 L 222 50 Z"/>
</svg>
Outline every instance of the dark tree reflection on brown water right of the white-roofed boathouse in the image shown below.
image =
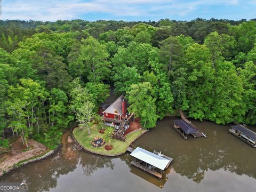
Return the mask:
<svg viewBox="0 0 256 192">
<path fill-rule="evenodd" d="M 256 151 L 227 132 L 229 125 L 193 121 L 207 138 L 189 137 L 184 140 L 172 129 L 174 118 L 158 122 L 156 129 L 143 135 L 134 145 L 148 150 L 161 150 L 173 158 L 171 168 L 182 176 L 199 183 L 208 170 L 226 170 L 238 175 L 256 178 Z M 256 131 L 255 127 L 251 127 Z M 156 137 L 157 135 L 157 137 Z"/>
</svg>

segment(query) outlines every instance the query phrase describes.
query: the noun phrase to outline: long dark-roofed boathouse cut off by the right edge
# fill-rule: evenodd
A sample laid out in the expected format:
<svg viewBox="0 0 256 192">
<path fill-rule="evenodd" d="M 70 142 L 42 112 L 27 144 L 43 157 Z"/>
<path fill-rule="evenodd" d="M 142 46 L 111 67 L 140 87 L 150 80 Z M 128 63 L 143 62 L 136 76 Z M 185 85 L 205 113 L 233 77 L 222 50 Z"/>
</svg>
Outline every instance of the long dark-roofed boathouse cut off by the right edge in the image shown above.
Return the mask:
<svg viewBox="0 0 256 192">
<path fill-rule="evenodd" d="M 233 125 L 231 129 L 228 130 L 229 133 L 235 135 L 239 139 L 245 141 L 252 147 L 256 147 L 256 133 L 247 129 L 243 125 Z"/>
</svg>

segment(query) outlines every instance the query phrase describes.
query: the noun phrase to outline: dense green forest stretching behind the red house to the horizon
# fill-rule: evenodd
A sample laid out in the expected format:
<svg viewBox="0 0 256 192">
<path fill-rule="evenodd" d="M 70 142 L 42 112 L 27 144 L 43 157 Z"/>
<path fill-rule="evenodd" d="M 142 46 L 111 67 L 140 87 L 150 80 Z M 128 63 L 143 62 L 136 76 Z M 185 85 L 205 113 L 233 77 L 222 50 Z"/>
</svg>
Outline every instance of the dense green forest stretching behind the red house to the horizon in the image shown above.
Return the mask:
<svg viewBox="0 0 256 192">
<path fill-rule="evenodd" d="M 99 122 L 113 87 L 149 129 L 177 115 L 256 123 L 256 21 L 0 21 L 0 146 L 49 148 Z"/>
</svg>

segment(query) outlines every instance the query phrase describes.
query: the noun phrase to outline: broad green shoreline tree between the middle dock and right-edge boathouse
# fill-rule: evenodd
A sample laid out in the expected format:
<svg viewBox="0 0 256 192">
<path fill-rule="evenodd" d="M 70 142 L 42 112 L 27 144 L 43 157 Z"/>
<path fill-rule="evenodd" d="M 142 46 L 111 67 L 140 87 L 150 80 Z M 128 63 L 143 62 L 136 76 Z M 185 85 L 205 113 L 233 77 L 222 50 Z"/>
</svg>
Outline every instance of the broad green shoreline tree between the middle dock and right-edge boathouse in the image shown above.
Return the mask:
<svg viewBox="0 0 256 192">
<path fill-rule="evenodd" d="M 241 122 L 241 117 L 246 111 L 242 97 L 244 92 L 242 80 L 237 76 L 231 62 L 220 62 L 216 69 L 213 84 L 214 103 L 209 119 L 218 124 Z"/>
</svg>

